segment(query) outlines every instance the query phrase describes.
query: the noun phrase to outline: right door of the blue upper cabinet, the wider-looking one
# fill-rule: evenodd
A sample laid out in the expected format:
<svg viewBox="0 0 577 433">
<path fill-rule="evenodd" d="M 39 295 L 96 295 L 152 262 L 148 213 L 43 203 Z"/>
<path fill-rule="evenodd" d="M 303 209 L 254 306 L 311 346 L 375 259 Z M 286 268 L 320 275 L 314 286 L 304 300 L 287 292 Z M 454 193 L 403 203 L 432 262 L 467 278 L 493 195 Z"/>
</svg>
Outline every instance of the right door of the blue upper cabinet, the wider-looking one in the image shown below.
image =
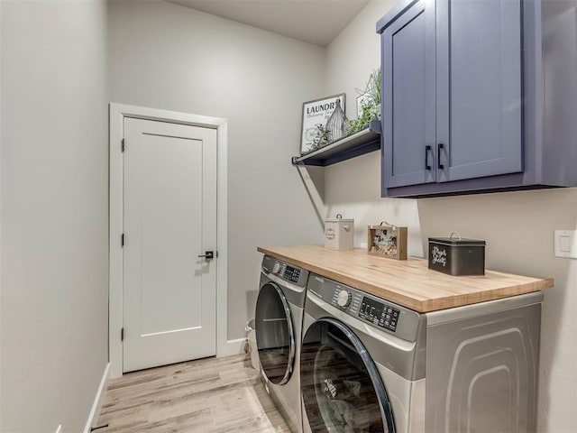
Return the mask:
<svg viewBox="0 0 577 433">
<path fill-rule="evenodd" d="M 437 181 L 523 170 L 521 0 L 437 0 Z"/>
</svg>

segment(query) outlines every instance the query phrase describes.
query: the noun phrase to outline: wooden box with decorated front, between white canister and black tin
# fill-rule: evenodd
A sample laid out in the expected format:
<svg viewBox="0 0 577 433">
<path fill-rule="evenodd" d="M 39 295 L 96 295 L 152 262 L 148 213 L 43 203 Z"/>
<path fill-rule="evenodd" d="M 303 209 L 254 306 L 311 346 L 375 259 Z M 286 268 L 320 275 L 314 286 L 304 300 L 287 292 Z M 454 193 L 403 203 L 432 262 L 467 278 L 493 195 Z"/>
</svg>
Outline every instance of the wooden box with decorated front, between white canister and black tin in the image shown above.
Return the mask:
<svg viewBox="0 0 577 433">
<path fill-rule="evenodd" d="M 396 260 L 407 260 L 407 227 L 369 226 L 367 235 L 367 252 L 371 255 L 389 257 Z"/>
</svg>

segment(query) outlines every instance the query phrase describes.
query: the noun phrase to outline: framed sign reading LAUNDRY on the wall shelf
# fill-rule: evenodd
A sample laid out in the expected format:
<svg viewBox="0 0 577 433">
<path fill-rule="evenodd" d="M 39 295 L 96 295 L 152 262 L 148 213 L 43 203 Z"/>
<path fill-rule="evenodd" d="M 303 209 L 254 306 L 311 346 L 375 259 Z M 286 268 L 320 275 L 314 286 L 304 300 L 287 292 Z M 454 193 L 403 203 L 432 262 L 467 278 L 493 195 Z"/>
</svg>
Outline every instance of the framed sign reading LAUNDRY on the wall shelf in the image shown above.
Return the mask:
<svg viewBox="0 0 577 433">
<path fill-rule="evenodd" d="M 307 153 L 316 148 L 317 125 L 325 127 L 326 121 L 333 114 L 336 101 L 340 100 L 344 111 L 344 93 L 331 97 L 322 97 L 303 103 L 303 118 L 300 134 L 300 153 Z"/>
</svg>

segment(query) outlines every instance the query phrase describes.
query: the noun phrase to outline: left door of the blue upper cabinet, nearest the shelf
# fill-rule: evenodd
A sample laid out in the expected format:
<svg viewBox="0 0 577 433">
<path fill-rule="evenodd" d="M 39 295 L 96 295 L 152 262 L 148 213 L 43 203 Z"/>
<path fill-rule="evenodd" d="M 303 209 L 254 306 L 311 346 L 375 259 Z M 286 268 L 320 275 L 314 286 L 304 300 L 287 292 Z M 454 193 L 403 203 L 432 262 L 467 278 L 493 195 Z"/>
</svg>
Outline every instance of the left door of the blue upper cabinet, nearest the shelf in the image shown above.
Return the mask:
<svg viewBox="0 0 577 433">
<path fill-rule="evenodd" d="M 383 188 L 435 182 L 433 2 L 419 1 L 390 23 L 381 49 Z"/>
</svg>

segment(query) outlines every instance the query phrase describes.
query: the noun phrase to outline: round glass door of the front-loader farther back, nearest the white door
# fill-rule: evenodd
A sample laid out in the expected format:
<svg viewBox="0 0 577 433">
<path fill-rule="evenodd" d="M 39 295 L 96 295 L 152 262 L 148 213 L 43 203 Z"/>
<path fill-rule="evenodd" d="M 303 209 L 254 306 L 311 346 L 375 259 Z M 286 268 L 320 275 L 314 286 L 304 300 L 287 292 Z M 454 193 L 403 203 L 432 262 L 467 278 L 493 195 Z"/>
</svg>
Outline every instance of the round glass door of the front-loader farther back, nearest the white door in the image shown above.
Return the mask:
<svg viewBox="0 0 577 433">
<path fill-rule="evenodd" d="M 295 330 L 289 302 L 273 282 L 259 290 L 254 330 L 262 371 L 272 383 L 289 382 L 296 354 Z"/>
</svg>

